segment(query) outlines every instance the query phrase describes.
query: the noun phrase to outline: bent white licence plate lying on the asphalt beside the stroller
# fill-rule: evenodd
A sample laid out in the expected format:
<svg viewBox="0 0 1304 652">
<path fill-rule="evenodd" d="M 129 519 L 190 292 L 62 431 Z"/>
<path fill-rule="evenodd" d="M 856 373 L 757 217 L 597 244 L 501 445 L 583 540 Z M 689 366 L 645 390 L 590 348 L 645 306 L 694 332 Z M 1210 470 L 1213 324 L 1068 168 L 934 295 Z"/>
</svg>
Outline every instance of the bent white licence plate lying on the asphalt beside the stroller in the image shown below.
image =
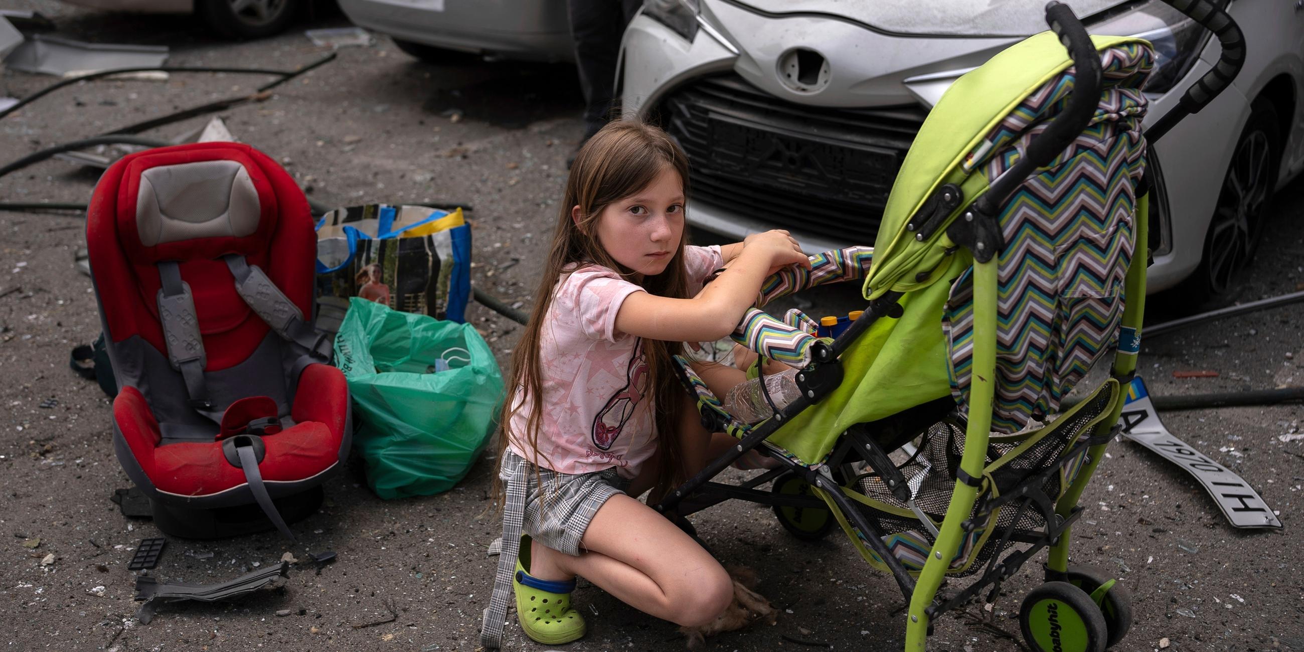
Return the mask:
<svg viewBox="0 0 1304 652">
<path fill-rule="evenodd" d="M 1227 467 L 1176 438 L 1155 412 L 1141 377 L 1132 379 L 1123 404 L 1123 437 L 1132 439 L 1174 464 L 1187 469 L 1214 497 L 1227 520 L 1239 528 L 1279 528 L 1282 522 L 1273 514 L 1249 482 Z"/>
</svg>

